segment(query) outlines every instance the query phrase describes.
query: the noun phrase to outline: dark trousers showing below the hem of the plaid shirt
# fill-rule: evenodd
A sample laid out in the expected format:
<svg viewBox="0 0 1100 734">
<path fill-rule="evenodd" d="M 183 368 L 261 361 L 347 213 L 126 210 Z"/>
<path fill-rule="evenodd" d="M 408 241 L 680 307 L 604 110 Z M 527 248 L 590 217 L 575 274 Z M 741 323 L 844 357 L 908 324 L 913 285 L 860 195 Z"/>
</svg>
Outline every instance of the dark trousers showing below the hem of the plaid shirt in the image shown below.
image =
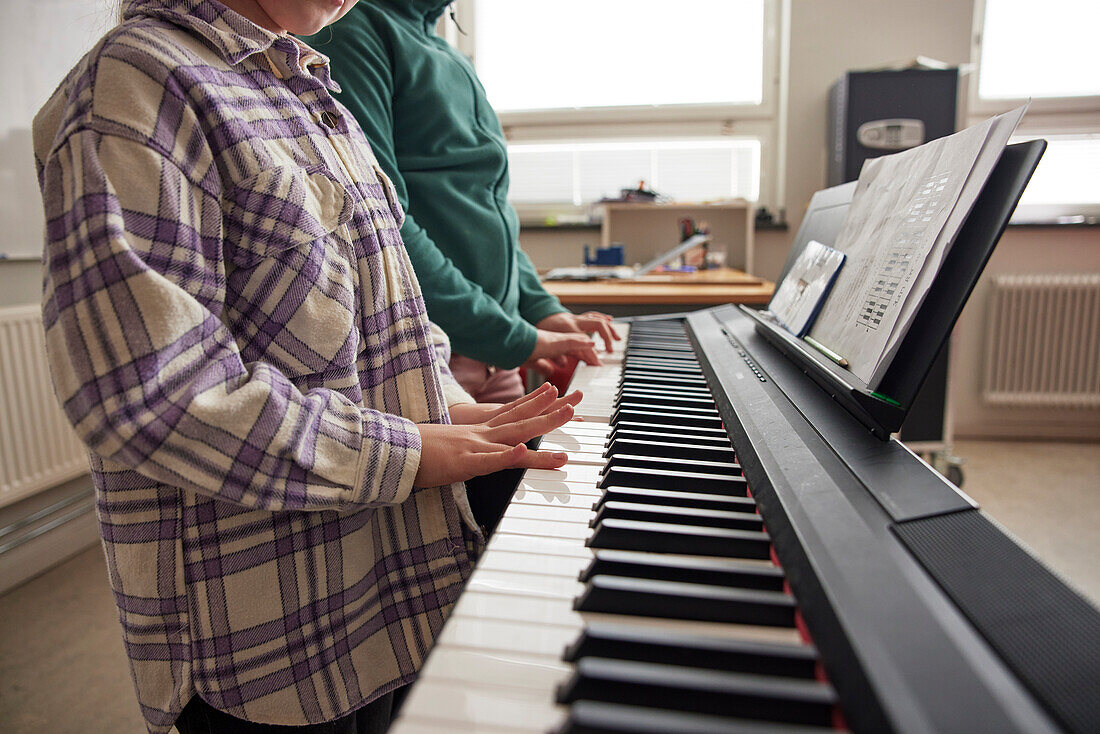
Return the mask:
<svg viewBox="0 0 1100 734">
<path fill-rule="evenodd" d="M 403 686 L 337 721 L 305 726 L 244 721 L 218 711 L 196 695 L 176 720 L 176 731 L 179 734 L 385 734 L 408 689 L 408 686 Z"/>
</svg>

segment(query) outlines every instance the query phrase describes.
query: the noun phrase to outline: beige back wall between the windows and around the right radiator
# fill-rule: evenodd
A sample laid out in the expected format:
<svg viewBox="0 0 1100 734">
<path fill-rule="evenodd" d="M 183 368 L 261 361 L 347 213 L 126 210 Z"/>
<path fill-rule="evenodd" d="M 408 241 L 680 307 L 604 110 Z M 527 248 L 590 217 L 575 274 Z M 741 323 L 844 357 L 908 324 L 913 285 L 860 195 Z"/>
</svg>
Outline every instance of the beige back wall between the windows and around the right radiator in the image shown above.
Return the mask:
<svg viewBox="0 0 1100 734">
<path fill-rule="evenodd" d="M 755 271 L 774 281 L 814 191 L 824 188 L 826 99 L 848 69 L 930 56 L 970 61 L 971 0 L 791 0 L 787 134 L 787 231 L 760 230 Z M 963 85 L 966 81 L 964 79 Z M 964 99 L 960 109 L 965 109 Z M 573 265 L 581 244 L 597 235 L 538 230 L 524 244 L 540 267 Z M 1011 228 L 975 288 L 952 339 L 949 423 L 956 438 L 1100 440 L 1098 410 L 1035 410 L 985 405 L 977 380 L 985 368 L 988 284 L 993 274 L 1100 272 L 1100 227 Z"/>
</svg>

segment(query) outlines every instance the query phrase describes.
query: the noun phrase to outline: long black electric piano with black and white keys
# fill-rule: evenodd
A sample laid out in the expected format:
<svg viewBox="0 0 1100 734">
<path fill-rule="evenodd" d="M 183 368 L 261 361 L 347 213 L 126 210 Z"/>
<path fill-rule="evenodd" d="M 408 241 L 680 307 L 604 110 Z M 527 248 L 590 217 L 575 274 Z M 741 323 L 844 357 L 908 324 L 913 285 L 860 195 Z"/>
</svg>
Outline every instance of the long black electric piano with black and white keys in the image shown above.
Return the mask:
<svg viewBox="0 0 1100 734">
<path fill-rule="evenodd" d="M 525 473 L 392 732 L 1100 731 L 1096 610 L 1013 577 L 1068 666 L 1049 690 L 1005 600 L 953 577 L 1031 559 L 955 549 L 996 530 L 965 495 L 730 309 L 617 326 L 543 438 L 569 464 Z"/>
</svg>

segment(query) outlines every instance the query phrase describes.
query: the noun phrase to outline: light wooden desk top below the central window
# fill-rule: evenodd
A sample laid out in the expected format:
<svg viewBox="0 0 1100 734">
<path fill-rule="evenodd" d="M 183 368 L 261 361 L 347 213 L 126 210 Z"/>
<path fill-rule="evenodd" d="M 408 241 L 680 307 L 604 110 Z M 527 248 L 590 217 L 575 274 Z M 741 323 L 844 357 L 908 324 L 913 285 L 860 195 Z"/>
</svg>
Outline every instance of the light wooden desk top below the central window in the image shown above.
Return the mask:
<svg viewBox="0 0 1100 734">
<path fill-rule="evenodd" d="M 696 273 L 652 273 L 632 281 L 543 281 L 542 286 L 572 310 L 591 307 L 613 316 L 634 316 L 722 304 L 766 305 L 776 284 L 719 267 Z"/>
</svg>

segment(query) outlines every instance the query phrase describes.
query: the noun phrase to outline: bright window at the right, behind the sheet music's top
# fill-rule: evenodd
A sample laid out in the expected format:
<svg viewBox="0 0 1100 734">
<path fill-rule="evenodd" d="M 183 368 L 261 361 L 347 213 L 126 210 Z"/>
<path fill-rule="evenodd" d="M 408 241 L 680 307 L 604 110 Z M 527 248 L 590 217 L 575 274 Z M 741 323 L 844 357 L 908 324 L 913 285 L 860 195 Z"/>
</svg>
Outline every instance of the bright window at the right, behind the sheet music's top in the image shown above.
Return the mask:
<svg viewBox="0 0 1100 734">
<path fill-rule="evenodd" d="M 1015 221 L 1100 215 L 1100 44 L 1093 0 L 1023 0 L 975 7 L 971 122 L 1031 99 L 1014 140 L 1044 138 L 1046 154 Z"/>
</svg>

